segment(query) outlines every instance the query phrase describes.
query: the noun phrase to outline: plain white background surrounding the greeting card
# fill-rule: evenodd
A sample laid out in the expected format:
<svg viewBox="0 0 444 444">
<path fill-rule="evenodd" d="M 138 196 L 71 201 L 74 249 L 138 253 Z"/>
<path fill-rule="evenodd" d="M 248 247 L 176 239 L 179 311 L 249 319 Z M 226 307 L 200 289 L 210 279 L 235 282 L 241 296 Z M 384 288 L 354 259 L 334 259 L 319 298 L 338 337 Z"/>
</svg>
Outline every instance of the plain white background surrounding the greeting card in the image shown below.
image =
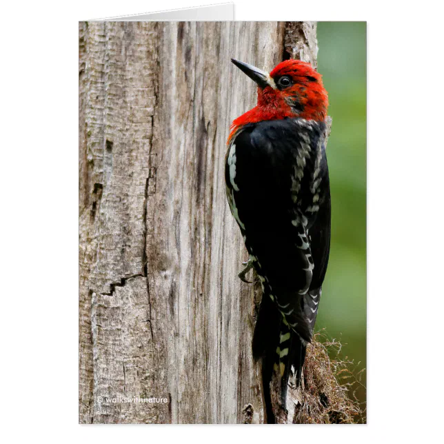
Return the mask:
<svg viewBox="0 0 444 444">
<path fill-rule="evenodd" d="M 414 10 L 387 0 L 235 2 L 237 20 L 368 21 L 368 425 L 279 431 L 77 425 L 77 22 L 205 0 L 183 3 L 3 5 L 0 405 L 6 442 L 442 439 L 444 76 L 442 14 L 432 1 Z"/>
</svg>

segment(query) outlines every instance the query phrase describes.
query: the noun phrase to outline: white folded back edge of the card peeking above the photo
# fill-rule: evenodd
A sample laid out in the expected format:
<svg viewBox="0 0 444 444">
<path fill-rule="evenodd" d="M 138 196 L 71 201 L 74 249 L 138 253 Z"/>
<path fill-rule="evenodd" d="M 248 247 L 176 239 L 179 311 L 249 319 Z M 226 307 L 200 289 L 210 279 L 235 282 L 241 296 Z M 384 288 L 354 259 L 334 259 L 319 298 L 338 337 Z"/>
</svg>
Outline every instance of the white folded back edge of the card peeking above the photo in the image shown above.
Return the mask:
<svg viewBox="0 0 444 444">
<path fill-rule="evenodd" d="M 234 3 L 196 6 L 169 11 L 129 14 L 85 21 L 230 21 L 234 20 Z"/>
</svg>

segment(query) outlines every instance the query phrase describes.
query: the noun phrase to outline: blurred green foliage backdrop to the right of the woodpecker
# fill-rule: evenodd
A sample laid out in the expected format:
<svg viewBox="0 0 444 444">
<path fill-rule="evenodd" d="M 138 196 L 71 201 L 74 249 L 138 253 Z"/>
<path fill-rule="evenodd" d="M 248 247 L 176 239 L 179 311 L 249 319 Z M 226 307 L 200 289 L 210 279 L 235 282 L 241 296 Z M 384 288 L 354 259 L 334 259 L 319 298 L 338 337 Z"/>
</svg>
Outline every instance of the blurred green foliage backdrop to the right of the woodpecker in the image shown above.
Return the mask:
<svg viewBox="0 0 444 444">
<path fill-rule="evenodd" d="M 366 23 L 318 22 L 318 71 L 333 119 L 327 145 L 332 246 L 316 328 L 366 366 Z M 365 394 L 359 393 L 360 398 Z"/>
</svg>

